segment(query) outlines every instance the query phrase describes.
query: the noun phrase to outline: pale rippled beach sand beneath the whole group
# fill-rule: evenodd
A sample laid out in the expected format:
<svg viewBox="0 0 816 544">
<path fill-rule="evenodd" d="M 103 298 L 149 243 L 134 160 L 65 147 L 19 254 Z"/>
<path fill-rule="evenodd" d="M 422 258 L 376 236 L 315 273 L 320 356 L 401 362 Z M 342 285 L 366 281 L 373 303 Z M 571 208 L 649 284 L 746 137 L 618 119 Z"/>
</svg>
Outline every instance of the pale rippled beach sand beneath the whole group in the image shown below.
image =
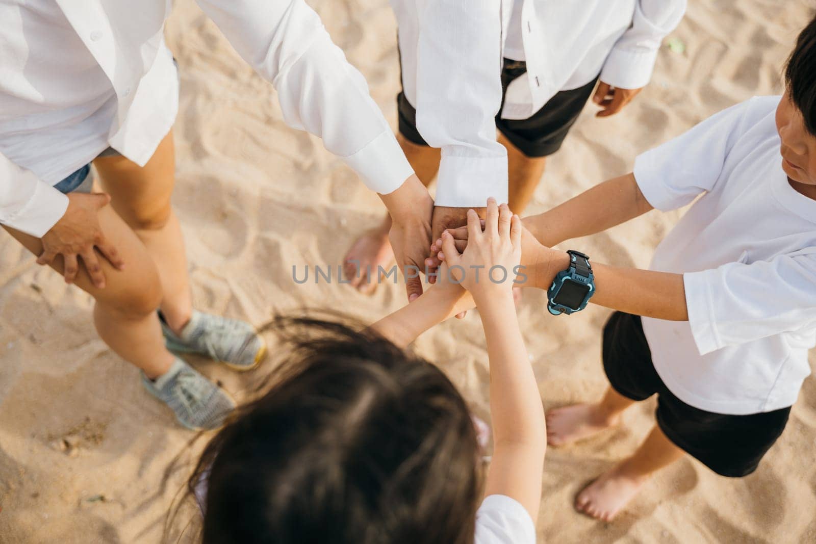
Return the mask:
<svg viewBox="0 0 816 544">
<path fill-rule="evenodd" d="M 399 68 L 388 2 L 310 3 L 395 122 Z M 650 86 L 616 117 L 596 119 L 595 108 L 586 108 L 549 161 L 527 213 L 630 171 L 637 153 L 722 108 L 779 93 L 783 60 L 807 20 L 801 0 L 690 2 Z M 336 268 L 333 285 L 295 285 L 293 265 L 336 266 L 383 206 L 319 139 L 286 127 L 272 86 L 191 0 L 177 2 L 167 39 L 181 77 L 175 206 L 197 307 L 255 325 L 300 307 L 344 310 L 364 321 L 400 307 L 401 285 L 366 297 L 337 285 Z M 645 267 L 678 216 L 652 212 L 570 245 L 598 262 Z M 543 293 L 527 291 L 519 316 L 544 404 L 595 398 L 605 387 L 599 334 L 609 312 L 591 307 L 552 317 L 543 303 Z M 487 356 L 474 312 L 424 334 L 416 348 L 489 418 Z M 6 235 L 0 235 L 0 360 L 0 542 L 160 542 L 189 452 L 200 451 L 203 440 L 187 449 L 193 433 L 175 424 L 141 387 L 136 369 L 95 334 L 91 299 L 38 267 Z M 239 375 L 191 360 L 238 399 L 271 367 Z M 653 412 L 654 400 L 646 401 L 619 429 L 548 451 L 542 541 L 816 542 L 813 379 L 755 474 L 728 480 L 685 458 L 614 523 L 576 514 L 574 495 L 639 444 Z"/>
</svg>

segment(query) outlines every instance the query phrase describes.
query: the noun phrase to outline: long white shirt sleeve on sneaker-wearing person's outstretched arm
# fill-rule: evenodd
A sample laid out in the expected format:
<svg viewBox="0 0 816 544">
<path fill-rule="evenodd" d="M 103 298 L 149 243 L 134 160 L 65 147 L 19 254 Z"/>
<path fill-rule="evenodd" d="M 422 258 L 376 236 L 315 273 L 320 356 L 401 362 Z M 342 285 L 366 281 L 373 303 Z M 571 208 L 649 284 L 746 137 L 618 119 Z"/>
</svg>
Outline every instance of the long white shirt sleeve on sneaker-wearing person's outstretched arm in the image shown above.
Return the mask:
<svg viewBox="0 0 816 544">
<path fill-rule="evenodd" d="M 321 137 L 376 192 L 392 192 L 413 174 L 365 78 L 304 0 L 197 2 L 273 82 L 287 125 Z"/>
</svg>

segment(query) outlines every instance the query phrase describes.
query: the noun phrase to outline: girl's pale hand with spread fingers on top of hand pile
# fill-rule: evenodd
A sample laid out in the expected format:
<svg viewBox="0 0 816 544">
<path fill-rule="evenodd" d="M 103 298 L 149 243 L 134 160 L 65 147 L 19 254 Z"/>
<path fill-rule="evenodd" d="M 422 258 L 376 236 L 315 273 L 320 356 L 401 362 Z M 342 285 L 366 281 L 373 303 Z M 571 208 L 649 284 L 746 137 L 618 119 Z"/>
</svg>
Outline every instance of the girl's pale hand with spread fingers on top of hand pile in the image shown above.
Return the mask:
<svg viewBox="0 0 816 544">
<path fill-rule="evenodd" d="M 506 204 L 487 201 L 485 230 L 476 211 L 468 210 L 468 245 L 459 253 L 450 232 L 442 235 L 446 273 L 470 291 L 474 299 L 505 292 L 510 294 L 521 261 L 521 219 Z"/>
</svg>

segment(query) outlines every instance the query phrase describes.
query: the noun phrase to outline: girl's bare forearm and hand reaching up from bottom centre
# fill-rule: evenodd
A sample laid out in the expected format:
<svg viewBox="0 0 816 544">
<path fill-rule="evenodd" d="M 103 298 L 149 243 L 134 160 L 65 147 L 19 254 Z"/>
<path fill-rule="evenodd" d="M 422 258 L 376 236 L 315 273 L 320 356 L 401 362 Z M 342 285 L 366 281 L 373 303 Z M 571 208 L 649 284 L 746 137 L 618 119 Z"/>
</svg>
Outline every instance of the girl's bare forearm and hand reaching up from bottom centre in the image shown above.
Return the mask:
<svg viewBox="0 0 816 544">
<path fill-rule="evenodd" d="M 501 494 L 524 506 L 533 520 L 541 501 L 541 475 L 547 449 L 547 429 L 533 369 L 512 299 L 512 274 L 494 283 L 473 273 L 473 267 L 512 271 L 521 259 L 521 219 L 508 206 L 487 203 L 485 230 L 474 210 L 468 211 L 470 240 L 463 254 L 449 233 L 442 241 L 451 271 L 461 271 L 462 285 L 473 295 L 485 329 L 490 357 L 490 418 L 493 461 L 487 473 L 486 495 Z M 494 276 L 491 276 L 491 278 Z M 458 278 L 459 279 L 459 278 Z"/>
</svg>

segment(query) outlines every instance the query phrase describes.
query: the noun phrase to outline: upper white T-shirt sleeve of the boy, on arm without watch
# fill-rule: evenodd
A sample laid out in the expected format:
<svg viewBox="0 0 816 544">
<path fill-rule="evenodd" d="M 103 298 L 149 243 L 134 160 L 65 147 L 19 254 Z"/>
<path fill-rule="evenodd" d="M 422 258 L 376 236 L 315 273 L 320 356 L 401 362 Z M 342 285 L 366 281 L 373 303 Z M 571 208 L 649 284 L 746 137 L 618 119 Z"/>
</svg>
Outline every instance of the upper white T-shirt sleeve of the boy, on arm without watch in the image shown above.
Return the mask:
<svg viewBox="0 0 816 544">
<path fill-rule="evenodd" d="M 714 188 L 749 102 L 724 109 L 635 159 L 637 186 L 652 207 L 676 210 Z"/>
</svg>

